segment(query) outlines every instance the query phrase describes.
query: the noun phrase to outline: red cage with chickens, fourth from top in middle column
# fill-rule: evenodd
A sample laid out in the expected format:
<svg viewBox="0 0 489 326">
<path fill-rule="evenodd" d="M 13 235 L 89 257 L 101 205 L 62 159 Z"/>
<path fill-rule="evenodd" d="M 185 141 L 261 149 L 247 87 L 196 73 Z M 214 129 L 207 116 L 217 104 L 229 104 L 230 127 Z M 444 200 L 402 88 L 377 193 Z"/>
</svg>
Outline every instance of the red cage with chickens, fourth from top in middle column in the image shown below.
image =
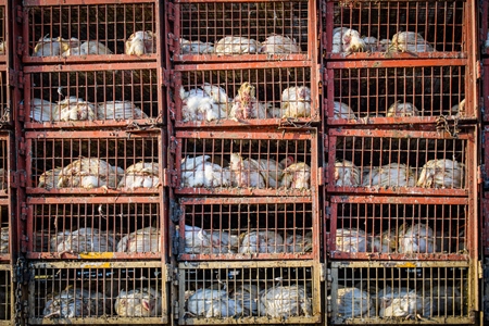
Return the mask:
<svg viewBox="0 0 489 326">
<path fill-rule="evenodd" d="M 315 206 L 303 198 L 183 198 L 174 252 L 180 261 L 318 259 Z"/>
</svg>

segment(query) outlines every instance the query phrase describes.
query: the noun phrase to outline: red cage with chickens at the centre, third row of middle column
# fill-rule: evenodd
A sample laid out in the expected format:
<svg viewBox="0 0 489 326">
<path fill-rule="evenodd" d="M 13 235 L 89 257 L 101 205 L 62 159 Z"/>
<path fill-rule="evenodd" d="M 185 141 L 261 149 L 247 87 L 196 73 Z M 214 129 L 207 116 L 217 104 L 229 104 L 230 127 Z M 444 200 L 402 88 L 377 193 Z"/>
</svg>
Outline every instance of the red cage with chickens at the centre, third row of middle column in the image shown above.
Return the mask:
<svg viewBox="0 0 489 326">
<path fill-rule="evenodd" d="M 266 130 L 266 129 L 265 129 Z M 176 195 L 311 197 L 317 186 L 316 129 L 302 133 L 176 131 Z"/>
</svg>

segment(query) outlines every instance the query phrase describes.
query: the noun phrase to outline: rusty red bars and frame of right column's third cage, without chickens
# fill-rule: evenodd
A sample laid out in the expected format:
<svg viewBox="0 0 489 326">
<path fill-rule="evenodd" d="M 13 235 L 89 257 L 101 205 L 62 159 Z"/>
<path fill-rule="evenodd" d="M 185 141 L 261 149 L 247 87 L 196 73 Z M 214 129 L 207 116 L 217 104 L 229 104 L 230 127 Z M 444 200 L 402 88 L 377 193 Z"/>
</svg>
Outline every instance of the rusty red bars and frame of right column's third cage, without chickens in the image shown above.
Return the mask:
<svg viewBox="0 0 489 326">
<path fill-rule="evenodd" d="M 374 146 L 369 143 L 374 143 Z M 428 147 L 426 147 L 426 145 L 428 145 Z M 365 146 L 368 146 L 368 148 L 365 149 Z M 476 154 L 474 152 L 476 146 L 477 142 L 474 131 L 461 133 L 456 138 L 452 138 L 443 133 L 415 130 L 406 131 L 399 128 L 397 128 L 397 130 L 329 129 L 328 137 L 325 142 L 325 148 L 328 149 L 325 159 L 329 162 L 325 167 L 327 171 L 325 174 L 327 191 L 343 193 L 465 197 L 471 193 L 471 187 L 476 181 L 475 173 L 477 168 L 474 166 L 477 164 L 477 160 L 475 160 L 475 156 L 473 158 L 473 155 Z M 440 148 L 440 150 L 438 150 L 438 148 Z M 461 155 L 461 158 L 453 158 L 455 154 Z M 421 175 L 421 168 L 427 161 L 434 159 L 455 159 L 455 161 L 462 163 L 464 166 L 463 177 L 460 177 L 460 183 L 463 188 L 434 189 L 393 186 L 378 187 L 375 185 L 372 187 L 336 186 L 335 168 L 328 168 L 328 166 L 333 166 L 333 164 L 337 161 L 352 161 L 352 158 L 353 161 L 356 162 L 353 163 L 360 168 L 359 173 L 361 185 L 364 180 L 363 174 L 368 173 L 373 170 L 373 167 L 383 166 L 389 163 L 408 163 L 412 168 L 414 168 L 414 175 L 411 174 L 411 176 L 414 177 L 414 181 L 417 181 Z M 367 160 L 367 158 L 371 158 L 371 161 L 366 162 L 365 160 Z M 409 161 L 406 161 L 406 159 L 409 159 Z M 365 161 L 366 163 L 362 163 L 362 161 Z"/>
</svg>

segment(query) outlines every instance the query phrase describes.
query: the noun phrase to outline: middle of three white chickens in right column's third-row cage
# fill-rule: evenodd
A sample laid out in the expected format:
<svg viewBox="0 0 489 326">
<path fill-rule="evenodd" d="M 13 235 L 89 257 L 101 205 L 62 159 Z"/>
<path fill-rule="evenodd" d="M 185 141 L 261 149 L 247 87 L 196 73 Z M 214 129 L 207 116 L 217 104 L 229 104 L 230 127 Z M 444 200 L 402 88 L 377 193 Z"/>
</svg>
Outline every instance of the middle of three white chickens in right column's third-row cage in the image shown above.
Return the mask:
<svg viewBox="0 0 489 326">
<path fill-rule="evenodd" d="M 405 165 L 389 163 L 378 168 L 373 168 L 363 179 L 364 187 L 414 187 L 415 171 Z"/>
</svg>

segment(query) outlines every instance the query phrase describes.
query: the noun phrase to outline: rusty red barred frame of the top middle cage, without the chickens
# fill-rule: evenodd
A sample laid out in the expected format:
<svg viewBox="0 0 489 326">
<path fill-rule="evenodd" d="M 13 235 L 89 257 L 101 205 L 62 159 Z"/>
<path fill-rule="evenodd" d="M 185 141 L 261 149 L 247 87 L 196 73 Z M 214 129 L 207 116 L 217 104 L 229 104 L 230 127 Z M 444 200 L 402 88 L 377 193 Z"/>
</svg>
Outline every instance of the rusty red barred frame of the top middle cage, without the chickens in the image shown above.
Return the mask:
<svg viewBox="0 0 489 326">
<path fill-rule="evenodd" d="M 265 4 L 269 8 L 264 8 Z M 223 8 L 217 8 L 220 5 L 223 5 Z M 229 7 L 226 8 L 226 5 Z M 286 5 L 290 5 L 291 9 L 286 10 Z M 237 7 L 240 7 L 240 9 L 237 9 Z M 239 10 L 246 12 L 247 15 L 243 15 Z M 175 62 L 301 61 L 315 58 L 317 40 L 316 3 L 313 0 L 225 2 L 177 0 L 175 3 L 168 2 L 166 12 L 167 18 L 173 22 L 168 25 L 171 26 L 168 43 Z M 269 20 L 271 13 L 274 16 Z M 301 16 L 292 16 L 292 13 Z M 227 26 L 226 22 L 229 21 L 236 22 L 233 23 L 236 25 Z M 199 26 L 196 27 L 196 24 L 199 24 Z M 183 53 L 179 42 L 180 38 L 185 38 L 215 45 L 226 36 L 247 37 L 263 42 L 266 37 L 274 34 L 294 38 L 301 46 L 302 52 L 238 55 L 186 54 Z"/>
</svg>

